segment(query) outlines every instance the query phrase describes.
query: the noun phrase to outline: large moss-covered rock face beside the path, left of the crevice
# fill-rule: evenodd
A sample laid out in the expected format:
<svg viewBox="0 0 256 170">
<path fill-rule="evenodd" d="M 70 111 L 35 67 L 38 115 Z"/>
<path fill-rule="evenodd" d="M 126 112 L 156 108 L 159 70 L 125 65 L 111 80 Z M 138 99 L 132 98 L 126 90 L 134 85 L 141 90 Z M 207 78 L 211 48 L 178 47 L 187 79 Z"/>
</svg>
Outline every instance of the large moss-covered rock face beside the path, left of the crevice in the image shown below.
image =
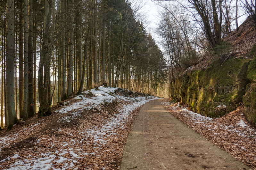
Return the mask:
<svg viewBox="0 0 256 170">
<path fill-rule="evenodd" d="M 243 100 L 250 82 L 246 77 L 249 64 L 249 59 L 231 57 L 223 64 L 213 62 L 206 70 L 186 72 L 171 82 L 170 94 L 201 115 L 222 116 Z"/>
</svg>

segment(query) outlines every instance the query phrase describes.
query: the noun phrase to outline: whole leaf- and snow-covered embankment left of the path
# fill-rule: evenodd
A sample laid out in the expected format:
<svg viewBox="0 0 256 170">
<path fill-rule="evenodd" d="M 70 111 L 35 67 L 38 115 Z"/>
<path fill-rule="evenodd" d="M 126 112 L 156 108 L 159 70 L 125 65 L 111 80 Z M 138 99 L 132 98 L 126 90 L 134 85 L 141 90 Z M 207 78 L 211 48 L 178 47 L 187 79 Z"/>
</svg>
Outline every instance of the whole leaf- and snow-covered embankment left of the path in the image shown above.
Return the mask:
<svg viewBox="0 0 256 170">
<path fill-rule="evenodd" d="M 99 87 L 0 132 L 0 169 L 119 169 L 138 108 L 156 97 Z"/>
</svg>

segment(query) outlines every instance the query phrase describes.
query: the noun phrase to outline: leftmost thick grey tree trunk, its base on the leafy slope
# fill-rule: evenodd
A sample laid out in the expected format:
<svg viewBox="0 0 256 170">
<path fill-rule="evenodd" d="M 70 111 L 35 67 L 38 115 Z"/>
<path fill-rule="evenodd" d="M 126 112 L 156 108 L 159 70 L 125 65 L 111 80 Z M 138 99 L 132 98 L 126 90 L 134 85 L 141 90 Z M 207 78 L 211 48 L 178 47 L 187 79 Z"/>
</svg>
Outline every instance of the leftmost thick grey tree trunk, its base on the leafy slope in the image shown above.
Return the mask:
<svg viewBox="0 0 256 170">
<path fill-rule="evenodd" d="M 14 4 L 13 0 L 7 0 L 7 33 L 6 33 L 6 109 L 7 109 L 7 129 L 18 122 L 14 103 Z"/>
</svg>

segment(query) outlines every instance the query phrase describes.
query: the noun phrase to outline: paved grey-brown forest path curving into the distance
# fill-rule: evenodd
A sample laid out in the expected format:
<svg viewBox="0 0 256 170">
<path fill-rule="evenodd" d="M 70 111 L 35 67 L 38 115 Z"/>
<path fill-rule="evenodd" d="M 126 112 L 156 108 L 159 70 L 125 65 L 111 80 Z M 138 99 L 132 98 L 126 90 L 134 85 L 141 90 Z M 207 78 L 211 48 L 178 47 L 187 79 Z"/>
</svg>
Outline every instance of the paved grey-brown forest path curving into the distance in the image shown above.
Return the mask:
<svg viewBox="0 0 256 170">
<path fill-rule="evenodd" d="M 136 169 L 250 169 L 173 117 L 156 99 L 131 127 L 120 165 Z"/>
</svg>

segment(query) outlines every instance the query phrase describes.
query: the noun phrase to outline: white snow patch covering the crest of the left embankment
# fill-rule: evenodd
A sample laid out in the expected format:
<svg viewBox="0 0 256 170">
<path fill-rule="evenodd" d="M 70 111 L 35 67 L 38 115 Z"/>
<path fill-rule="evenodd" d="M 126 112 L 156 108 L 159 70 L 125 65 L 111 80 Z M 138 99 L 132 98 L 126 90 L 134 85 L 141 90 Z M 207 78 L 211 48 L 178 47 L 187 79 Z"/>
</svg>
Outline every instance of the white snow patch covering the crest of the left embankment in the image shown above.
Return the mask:
<svg viewBox="0 0 256 170">
<path fill-rule="evenodd" d="M 56 111 L 58 114 L 72 113 L 71 116 L 63 117 L 59 120 L 59 122 L 70 122 L 70 120 L 72 120 L 74 117 L 81 115 L 81 113 L 83 113 L 83 110 L 100 109 L 101 105 L 104 103 L 112 103 L 113 101 L 126 103 L 128 102 L 130 104 L 126 105 L 126 108 L 122 109 L 127 109 L 128 107 L 130 107 L 130 109 L 133 110 L 136 107 L 141 106 L 152 99 L 156 99 L 153 96 L 143 96 L 141 93 L 139 93 L 140 95 L 138 95 L 137 97 L 130 97 L 128 94 L 126 96 L 122 96 L 119 95 L 120 93 L 118 92 L 130 92 L 131 94 L 133 94 L 133 92 L 131 91 L 123 90 L 118 87 L 104 86 L 100 86 L 98 87 L 98 89 L 92 89 L 86 92 L 82 92 L 81 95 L 73 98 L 73 100 L 77 100 L 75 103 L 69 105 L 69 102 L 72 102 L 73 100 L 68 101 L 65 103 L 65 105 L 68 106 L 64 106 Z"/>
</svg>

